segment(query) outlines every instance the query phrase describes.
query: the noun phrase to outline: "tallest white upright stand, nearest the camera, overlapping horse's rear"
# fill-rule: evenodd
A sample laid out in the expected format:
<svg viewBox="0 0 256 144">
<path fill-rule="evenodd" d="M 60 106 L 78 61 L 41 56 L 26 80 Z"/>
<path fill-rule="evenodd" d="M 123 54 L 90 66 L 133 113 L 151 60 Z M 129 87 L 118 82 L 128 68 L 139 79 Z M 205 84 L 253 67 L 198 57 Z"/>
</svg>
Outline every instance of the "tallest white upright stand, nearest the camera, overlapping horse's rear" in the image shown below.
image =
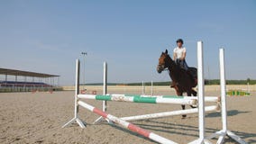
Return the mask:
<svg viewBox="0 0 256 144">
<path fill-rule="evenodd" d="M 203 42 L 197 41 L 197 76 L 198 76 L 198 125 L 199 125 L 199 139 L 196 139 L 191 144 L 210 144 L 206 139 L 205 131 L 205 77 L 204 77 L 204 56 L 203 56 Z"/>
</svg>

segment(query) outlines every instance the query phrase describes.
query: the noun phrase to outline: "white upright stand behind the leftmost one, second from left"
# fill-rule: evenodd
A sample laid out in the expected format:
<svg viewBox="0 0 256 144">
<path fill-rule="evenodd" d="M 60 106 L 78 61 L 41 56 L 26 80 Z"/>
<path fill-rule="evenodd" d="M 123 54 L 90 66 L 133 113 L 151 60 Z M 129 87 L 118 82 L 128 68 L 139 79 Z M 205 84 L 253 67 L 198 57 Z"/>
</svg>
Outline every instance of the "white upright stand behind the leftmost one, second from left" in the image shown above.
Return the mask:
<svg viewBox="0 0 256 144">
<path fill-rule="evenodd" d="M 106 62 L 103 63 L 103 94 L 104 95 L 107 94 L 107 63 Z M 107 107 L 106 105 L 107 105 L 106 101 L 103 101 L 102 102 L 103 112 L 106 112 L 106 107 Z M 98 119 L 96 119 L 96 121 L 94 121 L 94 124 L 102 120 L 103 120 L 103 117 L 100 116 Z"/>
</svg>

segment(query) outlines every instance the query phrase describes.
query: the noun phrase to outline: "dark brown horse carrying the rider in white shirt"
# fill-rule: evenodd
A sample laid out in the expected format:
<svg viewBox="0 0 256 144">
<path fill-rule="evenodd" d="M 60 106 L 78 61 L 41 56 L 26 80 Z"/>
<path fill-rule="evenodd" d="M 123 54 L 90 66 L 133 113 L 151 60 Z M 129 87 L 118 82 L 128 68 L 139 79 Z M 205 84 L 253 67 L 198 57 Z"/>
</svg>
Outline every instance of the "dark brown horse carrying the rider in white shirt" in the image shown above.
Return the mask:
<svg viewBox="0 0 256 144">
<path fill-rule="evenodd" d="M 197 92 L 193 87 L 197 86 L 197 68 L 188 67 L 187 71 L 175 63 L 175 61 L 169 57 L 168 50 L 162 52 L 159 58 L 159 65 L 157 71 L 161 73 L 165 68 L 169 70 L 169 76 L 172 80 L 172 85 L 176 90 L 176 94 L 182 96 L 183 93 L 187 93 L 187 96 L 197 96 Z M 181 105 L 185 110 L 185 105 Z M 191 105 L 193 108 L 193 106 Z M 185 118 L 187 115 L 182 115 Z"/>
</svg>

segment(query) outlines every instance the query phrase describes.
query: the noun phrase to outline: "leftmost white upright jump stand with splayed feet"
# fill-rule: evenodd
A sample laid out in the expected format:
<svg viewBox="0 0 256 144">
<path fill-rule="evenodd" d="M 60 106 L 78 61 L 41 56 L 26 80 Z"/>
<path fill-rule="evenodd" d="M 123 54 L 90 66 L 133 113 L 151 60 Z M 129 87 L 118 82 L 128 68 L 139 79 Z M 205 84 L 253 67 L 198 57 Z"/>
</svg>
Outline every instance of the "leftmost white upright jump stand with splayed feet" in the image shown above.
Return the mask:
<svg viewBox="0 0 256 144">
<path fill-rule="evenodd" d="M 81 121 L 79 118 L 78 118 L 78 94 L 79 94 L 79 78 L 80 78 L 80 60 L 77 59 L 76 60 L 76 90 L 75 90 L 75 113 L 74 113 L 74 118 L 71 119 L 69 122 L 67 122 L 66 124 L 64 124 L 62 126 L 62 128 L 68 126 L 69 124 L 77 121 L 78 125 L 81 127 L 81 128 L 86 128 L 85 124 L 83 121 Z"/>
</svg>

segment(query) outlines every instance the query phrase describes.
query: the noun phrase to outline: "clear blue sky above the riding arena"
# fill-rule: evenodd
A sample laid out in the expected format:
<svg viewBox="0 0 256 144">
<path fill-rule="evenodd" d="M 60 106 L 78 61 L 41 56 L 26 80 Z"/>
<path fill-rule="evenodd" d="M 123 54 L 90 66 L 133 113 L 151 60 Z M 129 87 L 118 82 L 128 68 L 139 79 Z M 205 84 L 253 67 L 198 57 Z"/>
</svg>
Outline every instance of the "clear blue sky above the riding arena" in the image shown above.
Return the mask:
<svg viewBox="0 0 256 144">
<path fill-rule="evenodd" d="M 75 59 L 87 51 L 87 83 L 167 81 L 160 52 L 182 38 L 197 67 L 204 41 L 206 78 L 219 77 L 218 49 L 228 79 L 256 78 L 256 1 L 0 1 L 0 67 L 60 75 L 72 85 Z M 83 63 L 82 63 L 83 64 Z"/>
</svg>

